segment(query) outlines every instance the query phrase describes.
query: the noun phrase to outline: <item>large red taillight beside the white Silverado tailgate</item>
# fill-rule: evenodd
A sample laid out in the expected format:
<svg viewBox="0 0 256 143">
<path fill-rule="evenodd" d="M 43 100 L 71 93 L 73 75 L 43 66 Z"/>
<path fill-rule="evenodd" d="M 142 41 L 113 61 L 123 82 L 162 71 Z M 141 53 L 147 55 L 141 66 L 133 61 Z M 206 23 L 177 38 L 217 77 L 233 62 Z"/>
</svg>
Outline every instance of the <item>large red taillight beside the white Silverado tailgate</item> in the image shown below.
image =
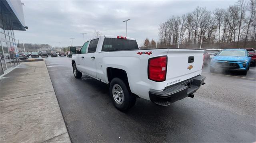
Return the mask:
<svg viewBox="0 0 256 143">
<path fill-rule="evenodd" d="M 154 57 L 148 60 L 148 79 L 157 82 L 165 81 L 167 56 Z"/>
</svg>

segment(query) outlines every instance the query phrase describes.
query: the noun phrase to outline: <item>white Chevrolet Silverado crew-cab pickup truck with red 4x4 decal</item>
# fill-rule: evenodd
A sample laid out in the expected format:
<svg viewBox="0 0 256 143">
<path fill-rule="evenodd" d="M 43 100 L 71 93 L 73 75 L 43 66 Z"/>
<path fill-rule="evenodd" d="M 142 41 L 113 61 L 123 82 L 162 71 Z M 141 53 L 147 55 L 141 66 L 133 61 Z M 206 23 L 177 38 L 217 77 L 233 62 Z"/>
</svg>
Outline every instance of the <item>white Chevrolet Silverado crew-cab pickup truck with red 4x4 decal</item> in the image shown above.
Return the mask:
<svg viewBox="0 0 256 143">
<path fill-rule="evenodd" d="M 109 85 L 114 106 L 127 111 L 144 98 L 168 106 L 204 84 L 204 50 L 139 49 L 133 38 L 100 36 L 71 47 L 75 78 L 86 74 Z"/>
</svg>

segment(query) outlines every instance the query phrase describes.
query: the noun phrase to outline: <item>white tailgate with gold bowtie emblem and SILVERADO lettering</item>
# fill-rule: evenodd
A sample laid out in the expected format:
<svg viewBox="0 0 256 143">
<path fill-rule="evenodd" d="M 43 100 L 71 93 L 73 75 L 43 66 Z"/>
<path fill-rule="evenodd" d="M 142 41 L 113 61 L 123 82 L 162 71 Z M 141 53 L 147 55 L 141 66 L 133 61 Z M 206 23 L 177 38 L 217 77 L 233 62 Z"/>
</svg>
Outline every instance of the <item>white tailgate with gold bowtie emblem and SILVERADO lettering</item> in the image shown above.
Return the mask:
<svg viewBox="0 0 256 143">
<path fill-rule="evenodd" d="M 165 87 L 201 74 L 204 50 L 168 49 Z"/>
</svg>

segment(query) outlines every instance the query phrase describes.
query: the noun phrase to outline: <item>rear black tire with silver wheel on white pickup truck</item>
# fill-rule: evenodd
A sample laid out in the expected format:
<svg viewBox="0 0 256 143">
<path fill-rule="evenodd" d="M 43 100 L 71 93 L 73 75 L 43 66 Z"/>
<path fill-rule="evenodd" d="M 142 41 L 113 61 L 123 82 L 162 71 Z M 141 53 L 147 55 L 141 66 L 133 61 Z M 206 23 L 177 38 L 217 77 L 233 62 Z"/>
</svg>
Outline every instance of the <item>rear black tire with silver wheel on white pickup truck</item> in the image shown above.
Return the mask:
<svg viewBox="0 0 256 143">
<path fill-rule="evenodd" d="M 109 94 L 114 106 L 122 112 L 128 111 L 136 102 L 136 97 L 130 93 L 130 90 L 120 78 L 111 80 Z"/>
</svg>

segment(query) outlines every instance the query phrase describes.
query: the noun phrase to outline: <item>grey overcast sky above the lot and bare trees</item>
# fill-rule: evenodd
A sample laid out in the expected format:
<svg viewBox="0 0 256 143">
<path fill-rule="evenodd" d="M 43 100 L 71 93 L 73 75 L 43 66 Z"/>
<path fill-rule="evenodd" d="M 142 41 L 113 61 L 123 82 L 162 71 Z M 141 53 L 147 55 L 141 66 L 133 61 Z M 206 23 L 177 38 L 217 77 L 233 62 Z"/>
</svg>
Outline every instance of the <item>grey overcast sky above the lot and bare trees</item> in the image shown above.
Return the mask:
<svg viewBox="0 0 256 143">
<path fill-rule="evenodd" d="M 158 40 L 159 24 L 170 16 L 192 12 L 197 6 L 213 11 L 228 8 L 237 0 L 22 0 L 27 31 L 15 31 L 25 43 L 69 46 L 93 38 L 94 29 L 102 35 L 126 35 L 142 44 L 148 37 Z M 60 43 L 58 43 L 60 42 Z"/>
</svg>

